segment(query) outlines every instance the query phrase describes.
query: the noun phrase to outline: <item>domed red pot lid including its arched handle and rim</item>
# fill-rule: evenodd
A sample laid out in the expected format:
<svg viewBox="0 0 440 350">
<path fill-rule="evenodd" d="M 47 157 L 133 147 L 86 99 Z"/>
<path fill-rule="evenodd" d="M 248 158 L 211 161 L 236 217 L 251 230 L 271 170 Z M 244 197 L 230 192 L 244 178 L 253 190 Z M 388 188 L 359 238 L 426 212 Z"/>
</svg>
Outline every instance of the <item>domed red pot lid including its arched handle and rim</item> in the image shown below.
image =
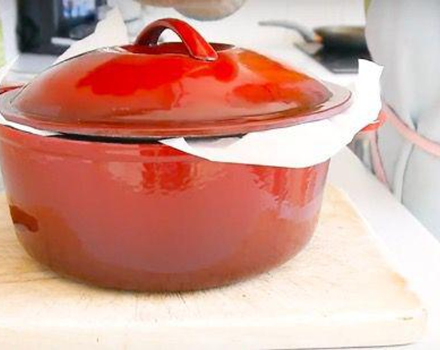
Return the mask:
<svg viewBox="0 0 440 350">
<path fill-rule="evenodd" d="M 182 43 L 158 44 L 165 29 Z M 152 23 L 135 44 L 101 48 L 4 94 L 0 111 L 37 129 L 95 136 L 220 136 L 327 118 L 350 92 L 257 52 L 208 44 L 187 23 Z"/>
</svg>

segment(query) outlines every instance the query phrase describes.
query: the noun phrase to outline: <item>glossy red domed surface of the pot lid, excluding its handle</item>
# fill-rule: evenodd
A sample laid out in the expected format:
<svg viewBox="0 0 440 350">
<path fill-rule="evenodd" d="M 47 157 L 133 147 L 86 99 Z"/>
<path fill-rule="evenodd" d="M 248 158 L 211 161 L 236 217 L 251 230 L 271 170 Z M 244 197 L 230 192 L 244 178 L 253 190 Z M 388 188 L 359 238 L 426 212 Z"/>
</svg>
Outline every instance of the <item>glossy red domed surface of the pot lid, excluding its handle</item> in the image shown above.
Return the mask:
<svg viewBox="0 0 440 350">
<path fill-rule="evenodd" d="M 16 121 L 67 132 L 114 129 L 124 136 L 237 124 L 244 132 L 246 125 L 274 118 L 267 114 L 288 109 L 293 117 L 330 97 L 318 81 L 255 52 L 230 49 L 204 62 L 186 53 L 126 50 L 95 51 L 47 70 L 11 102 L 21 115 Z"/>
</svg>

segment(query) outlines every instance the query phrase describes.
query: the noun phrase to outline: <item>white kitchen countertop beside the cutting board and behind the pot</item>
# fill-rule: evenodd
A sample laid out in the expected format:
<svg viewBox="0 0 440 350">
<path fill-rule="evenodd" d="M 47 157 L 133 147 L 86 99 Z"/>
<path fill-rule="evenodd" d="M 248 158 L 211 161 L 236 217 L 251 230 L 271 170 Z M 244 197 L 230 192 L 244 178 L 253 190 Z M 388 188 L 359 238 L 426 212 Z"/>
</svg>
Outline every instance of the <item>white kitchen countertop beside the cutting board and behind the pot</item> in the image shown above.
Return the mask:
<svg viewBox="0 0 440 350">
<path fill-rule="evenodd" d="M 350 85 L 355 76 L 334 75 L 319 66 L 296 48 L 260 48 L 311 75 L 342 85 Z M 26 60 L 26 56 L 20 62 Z M 29 56 L 28 56 L 29 59 Z M 50 58 L 42 58 L 50 60 Z M 26 80 L 29 72 L 22 66 L 10 80 Z M 405 350 L 440 348 L 440 242 L 431 235 L 388 190 L 363 167 L 358 158 L 345 148 L 334 157 L 330 167 L 330 181 L 343 189 L 356 203 L 368 225 L 389 251 L 396 268 L 420 295 L 429 313 L 429 328 L 422 342 L 403 346 Z M 393 347 L 400 349 L 400 347 Z"/>
</svg>

